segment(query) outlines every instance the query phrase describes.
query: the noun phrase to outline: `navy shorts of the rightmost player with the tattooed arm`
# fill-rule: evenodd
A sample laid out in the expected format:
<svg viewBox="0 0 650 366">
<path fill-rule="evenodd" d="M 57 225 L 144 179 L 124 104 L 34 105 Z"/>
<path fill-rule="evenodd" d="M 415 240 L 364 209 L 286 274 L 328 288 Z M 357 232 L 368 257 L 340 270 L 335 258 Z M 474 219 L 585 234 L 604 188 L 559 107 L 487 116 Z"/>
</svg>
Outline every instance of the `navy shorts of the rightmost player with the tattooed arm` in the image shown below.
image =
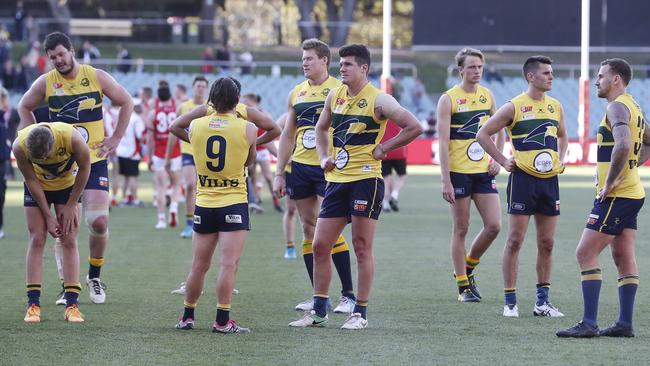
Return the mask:
<svg viewBox="0 0 650 366">
<path fill-rule="evenodd" d="M 607 235 L 620 235 L 624 229 L 636 230 L 636 218 L 644 200 L 608 197 L 600 202 L 596 199 L 587 218 L 586 228 Z"/>
</svg>

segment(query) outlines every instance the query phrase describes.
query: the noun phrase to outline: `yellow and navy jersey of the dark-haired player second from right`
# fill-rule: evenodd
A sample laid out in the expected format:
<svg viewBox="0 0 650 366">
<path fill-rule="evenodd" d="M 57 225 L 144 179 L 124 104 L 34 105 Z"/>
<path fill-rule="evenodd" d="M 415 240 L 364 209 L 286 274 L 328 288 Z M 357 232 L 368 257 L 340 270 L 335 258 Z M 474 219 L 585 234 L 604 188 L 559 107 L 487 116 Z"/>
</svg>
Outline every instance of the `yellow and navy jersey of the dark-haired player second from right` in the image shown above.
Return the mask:
<svg viewBox="0 0 650 366">
<path fill-rule="evenodd" d="M 510 102 L 515 107 L 515 116 L 507 131 L 517 168 L 538 178 L 561 173 L 557 143 L 560 102 L 548 95 L 535 100 L 526 93 Z"/>
</svg>

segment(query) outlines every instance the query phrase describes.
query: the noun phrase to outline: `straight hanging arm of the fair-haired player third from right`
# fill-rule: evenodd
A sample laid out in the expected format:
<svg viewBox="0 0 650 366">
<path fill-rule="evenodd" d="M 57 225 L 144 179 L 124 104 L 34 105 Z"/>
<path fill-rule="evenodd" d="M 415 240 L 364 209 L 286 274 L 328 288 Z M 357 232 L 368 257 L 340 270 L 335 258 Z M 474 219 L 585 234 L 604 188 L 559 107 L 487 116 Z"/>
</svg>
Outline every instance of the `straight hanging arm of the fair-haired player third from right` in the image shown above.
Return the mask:
<svg viewBox="0 0 650 366">
<path fill-rule="evenodd" d="M 438 160 L 440 160 L 440 175 L 442 180 L 442 198 L 456 203 L 456 194 L 449 176 L 449 134 L 451 125 L 451 98 L 447 93 L 438 99 Z"/>
</svg>

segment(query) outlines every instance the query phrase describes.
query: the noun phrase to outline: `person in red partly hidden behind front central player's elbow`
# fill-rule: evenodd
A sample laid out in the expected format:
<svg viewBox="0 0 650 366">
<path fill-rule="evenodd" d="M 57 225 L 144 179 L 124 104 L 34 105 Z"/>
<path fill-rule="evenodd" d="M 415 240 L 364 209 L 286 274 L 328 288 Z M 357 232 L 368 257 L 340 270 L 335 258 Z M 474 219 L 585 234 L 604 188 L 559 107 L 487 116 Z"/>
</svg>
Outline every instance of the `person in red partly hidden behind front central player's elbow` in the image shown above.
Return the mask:
<svg viewBox="0 0 650 366">
<path fill-rule="evenodd" d="M 399 134 L 400 130 L 395 122 L 389 120 L 381 141 L 384 142 L 392 139 Z M 393 177 L 393 170 L 397 174 L 397 177 Z M 399 211 L 397 200 L 399 199 L 400 190 L 404 187 L 404 183 L 406 183 L 406 146 L 402 146 L 386 154 L 386 158 L 381 161 L 381 175 L 384 177 L 386 187 L 382 208 L 386 211 Z"/>
</svg>

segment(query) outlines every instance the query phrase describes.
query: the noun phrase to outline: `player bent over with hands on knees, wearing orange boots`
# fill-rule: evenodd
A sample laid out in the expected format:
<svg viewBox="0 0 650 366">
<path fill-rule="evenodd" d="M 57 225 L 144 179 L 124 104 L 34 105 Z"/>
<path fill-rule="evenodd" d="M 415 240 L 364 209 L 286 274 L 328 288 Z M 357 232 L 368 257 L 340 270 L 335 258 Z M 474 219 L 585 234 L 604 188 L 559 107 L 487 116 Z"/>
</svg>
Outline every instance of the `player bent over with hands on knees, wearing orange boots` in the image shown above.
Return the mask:
<svg viewBox="0 0 650 366">
<path fill-rule="evenodd" d="M 65 320 L 83 322 L 77 307 L 79 283 L 79 199 L 90 174 L 90 153 L 81 134 L 69 124 L 39 123 L 18 132 L 13 153 L 25 178 L 28 309 L 25 322 L 41 321 L 43 250 L 49 233 L 59 239 L 63 256 Z M 54 205 L 56 217 L 50 205 Z"/>
</svg>

